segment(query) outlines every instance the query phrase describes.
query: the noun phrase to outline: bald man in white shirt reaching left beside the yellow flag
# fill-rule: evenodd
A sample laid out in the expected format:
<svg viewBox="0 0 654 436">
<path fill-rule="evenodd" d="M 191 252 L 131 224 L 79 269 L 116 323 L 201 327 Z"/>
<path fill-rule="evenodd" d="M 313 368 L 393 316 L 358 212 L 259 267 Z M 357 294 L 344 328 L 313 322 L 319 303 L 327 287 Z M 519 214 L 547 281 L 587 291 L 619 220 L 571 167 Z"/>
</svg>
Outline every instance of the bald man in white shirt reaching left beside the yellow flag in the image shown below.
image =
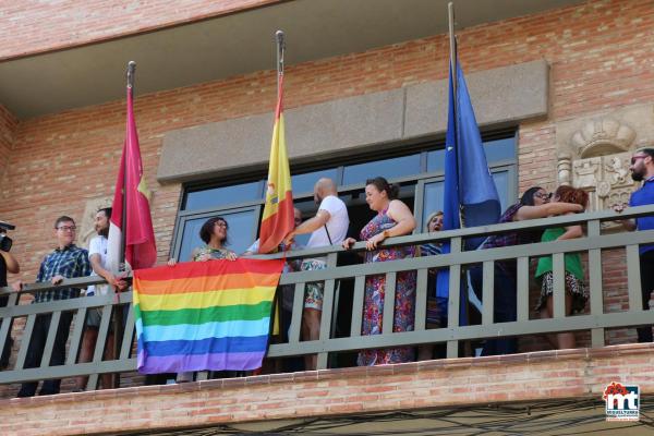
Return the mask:
<svg viewBox="0 0 654 436">
<path fill-rule="evenodd" d="M 287 243 L 295 234 L 312 233 L 306 244 L 306 249 L 316 249 L 319 246 L 340 245 L 348 233 L 350 218 L 348 208 L 342 199 L 338 197 L 336 183 L 331 179 L 320 179 L 314 186 L 314 201 L 318 206 L 316 216 L 307 219 L 295 228 L 287 237 Z M 324 269 L 327 267 L 325 257 L 310 258 L 302 261 L 301 270 L 311 271 Z M 323 313 L 323 292 L 324 282 L 314 282 L 306 284 L 304 299 L 304 314 L 302 323 L 302 339 L 317 340 L 320 332 L 320 315 Z M 316 355 L 305 358 L 306 370 L 315 370 L 317 363 Z"/>
</svg>

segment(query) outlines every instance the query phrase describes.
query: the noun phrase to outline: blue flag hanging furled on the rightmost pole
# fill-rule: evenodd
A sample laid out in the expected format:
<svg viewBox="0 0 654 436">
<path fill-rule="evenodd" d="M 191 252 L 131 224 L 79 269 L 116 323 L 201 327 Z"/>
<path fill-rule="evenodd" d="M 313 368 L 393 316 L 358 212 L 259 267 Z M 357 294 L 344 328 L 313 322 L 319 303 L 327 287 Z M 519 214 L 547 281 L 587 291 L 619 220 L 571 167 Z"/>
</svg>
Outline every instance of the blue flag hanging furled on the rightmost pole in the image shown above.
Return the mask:
<svg viewBox="0 0 654 436">
<path fill-rule="evenodd" d="M 449 111 L 445 138 L 445 189 L 443 230 L 496 223 L 501 214 L 497 189 L 488 170 L 482 136 L 477 128 L 463 71 L 457 63 L 457 95 L 449 74 Z M 469 240 L 465 250 L 475 250 L 483 239 Z M 450 252 L 449 242 L 443 254 Z M 449 270 L 438 272 L 436 296 L 449 298 Z M 461 287 L 460 320 L 467 325 L 467 292 Z M 443 305 L 443 303 L 441 303 Z"/>
</svg>

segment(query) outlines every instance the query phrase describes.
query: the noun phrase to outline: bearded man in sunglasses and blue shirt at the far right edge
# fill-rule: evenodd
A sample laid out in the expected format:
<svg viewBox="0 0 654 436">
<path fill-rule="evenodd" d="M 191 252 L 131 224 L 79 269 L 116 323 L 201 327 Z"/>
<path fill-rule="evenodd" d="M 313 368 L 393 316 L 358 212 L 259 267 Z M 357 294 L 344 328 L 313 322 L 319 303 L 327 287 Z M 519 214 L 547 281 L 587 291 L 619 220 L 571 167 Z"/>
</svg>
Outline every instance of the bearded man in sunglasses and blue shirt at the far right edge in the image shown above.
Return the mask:
<svg viewBox="0 0 654 436">
<path fill-rule="evenodd" d="M 631 179 L 643 182 L 642 186 L 631 193 L 629 206 L 644 206 L 654 204 L 654 148 L 639 148 L 631 156 Z M 623 205 L 617 205 L 616 211 L 622 211 Z M 622 227 L 629 231 L 654 229 L 654 216 L 622 220 Z M 654 290 L 654 244 L 639 246 L 641 292 L 643 295 L 643 310 L 650 310 L 650 299 Z M 652 326 L 637 328 L 639 342 L 652 342 Z"/>
</svg>

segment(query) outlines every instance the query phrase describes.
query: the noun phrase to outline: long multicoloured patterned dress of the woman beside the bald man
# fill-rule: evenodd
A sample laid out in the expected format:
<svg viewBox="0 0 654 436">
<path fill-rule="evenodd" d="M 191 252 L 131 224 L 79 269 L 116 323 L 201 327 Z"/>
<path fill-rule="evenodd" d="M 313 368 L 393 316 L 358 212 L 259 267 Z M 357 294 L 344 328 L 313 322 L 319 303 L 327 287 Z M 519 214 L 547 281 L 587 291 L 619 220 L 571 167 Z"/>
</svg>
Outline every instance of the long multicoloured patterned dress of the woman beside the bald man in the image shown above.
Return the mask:
<svg viewBox="0 0 654 436">
<path fill-rule="evenodd" d="M 377 214 L 362 230 L 361 240 L 368 240 L 377 233 L 396 226 L 396 221 L 387 215 L 387 209 Z M 384 249 L 366 252 L 365 262 L 398 261 L 414 257 L 414 246 Z M 384 293 L 386 276 L 368 276 L 365 279 L 365 296 L 363 303 L 362 335 L 380 335 L 384 319 Z M 395 293 L 395 316 L 392 331 L 411 331 L 415 319 L 415 271 L 398 272 Z M 413 347 L 392 349 L 363 350 L 359 353 L 359 366 L 383 365 L 388 363 L 411 362 L 414 360 Z"/>
</svg>

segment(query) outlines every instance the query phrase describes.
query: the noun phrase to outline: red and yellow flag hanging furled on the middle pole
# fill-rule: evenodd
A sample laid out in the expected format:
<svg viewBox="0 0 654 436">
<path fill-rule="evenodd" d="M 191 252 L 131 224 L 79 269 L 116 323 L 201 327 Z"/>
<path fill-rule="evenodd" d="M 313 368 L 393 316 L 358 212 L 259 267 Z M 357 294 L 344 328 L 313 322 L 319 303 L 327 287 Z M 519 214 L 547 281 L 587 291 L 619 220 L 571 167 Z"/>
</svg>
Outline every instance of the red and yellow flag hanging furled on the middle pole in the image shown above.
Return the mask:
<svg viewBox="0 0 654 436">
<path fill-rule="evenodd" d="M 291 171 L 286 148 L 282 114 L 282 83 L 279 75 L 277 109 L 275 110 L 275 128 L 270 145 L 270 166 L 268 167 L 268 183 L 266 206 L 259 230 L 259 253 L 270 253 L 277 250 L 283 238 L 293 230 L 293 194 L 291 192 Z"/>
</svg>

